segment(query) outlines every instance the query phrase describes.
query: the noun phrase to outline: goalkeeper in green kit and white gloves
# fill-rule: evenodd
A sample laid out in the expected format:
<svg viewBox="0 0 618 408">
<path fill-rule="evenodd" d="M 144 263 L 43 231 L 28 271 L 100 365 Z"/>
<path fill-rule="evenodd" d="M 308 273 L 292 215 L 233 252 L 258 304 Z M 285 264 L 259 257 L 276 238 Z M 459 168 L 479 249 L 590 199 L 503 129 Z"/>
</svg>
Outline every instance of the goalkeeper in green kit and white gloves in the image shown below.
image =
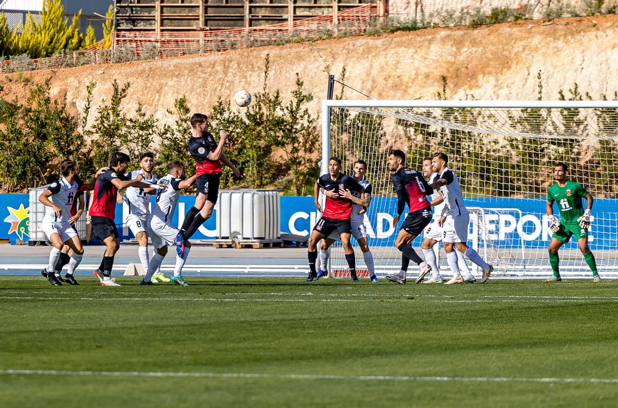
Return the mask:
<svg viewBox="0 0 618 408">
<path fill-rule="evenodd" d="M 583 188 L 583 185 L 567 178 L 569 169 L 564 163 L 556 164 L 554 168 L 554 180 L 556 184 L 549 187 L 547 192 L 547 218 L 549 228 L 554 234 L 549 242 L 549 263 L 554 271 L 554 276 L 546 282 L 560 282 L 558 250 L 563 244 L 569 242 L 571 236 L 577 238 L 577 244 L 582 251 L 592 271 L 593 282 L 601 281 L 596 271 L 595 255 L 588 249 L 588 227 L 590 227 L 590 211 L 592 210 L 592 195 Z M 582 207 L 582 198 L 586 199 L 586 210 Z M 560 221 L 554 216 L 554 202 L 558 204 Z"/>
</svg>

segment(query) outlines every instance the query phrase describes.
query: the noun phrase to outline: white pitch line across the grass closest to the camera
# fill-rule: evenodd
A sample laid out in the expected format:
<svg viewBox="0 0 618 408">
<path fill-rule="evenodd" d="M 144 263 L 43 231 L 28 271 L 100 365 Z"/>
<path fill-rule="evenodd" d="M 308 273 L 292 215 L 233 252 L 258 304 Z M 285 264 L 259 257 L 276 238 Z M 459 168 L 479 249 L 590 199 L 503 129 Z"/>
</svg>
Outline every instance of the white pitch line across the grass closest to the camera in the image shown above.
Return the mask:
<svg viewBox="0 0 618 408">
<path fill-rule="evenodd" d="M 291 380 L 362 380 L 362 381 L 460 381 L 489 383 L 604 383 L 616 384 L 618 378 L 537 378 L 537 377 L 446 377 L 407 375 L 322 375 L 268 373 L 183 373 L 183 372 L 121 372 L 121 371 L 64 371 L 64 370 L 0 370 L 6 375 L 72 375 L 112 377 L 194 377 L 194 378 L 282 378 Z"/>
</svg>

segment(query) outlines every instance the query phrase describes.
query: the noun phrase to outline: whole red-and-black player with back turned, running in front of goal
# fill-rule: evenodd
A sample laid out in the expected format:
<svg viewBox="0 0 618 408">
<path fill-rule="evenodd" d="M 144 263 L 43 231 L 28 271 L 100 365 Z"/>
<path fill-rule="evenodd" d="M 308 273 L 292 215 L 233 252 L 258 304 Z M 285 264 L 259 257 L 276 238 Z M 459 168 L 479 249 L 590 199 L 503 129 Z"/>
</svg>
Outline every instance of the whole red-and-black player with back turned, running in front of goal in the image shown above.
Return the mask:
<svg viewBox="0 0 618 408">
<path fill-rule="evenodd" d="M 404 212 L 405 205 L 408 205 L 408 215 L 405 217 L 395 241 L 395 246 L 402 252 L 401 270 L 399 273 L 386 276 L 389 281 L 396 283 L 405 283 L 405 274 L 410 260 L 415 261 L 421 270 L 428 268 L 425 261 L 412 249 L 410 243 L 431 223 L 432 217 L 431 203 L 427 200 L 427 196 L 433 193 L 433 189 L 427 183 L 423 174 L 408 169 L 404 164 L 405 154 L 403 151 L 389 151 L 388 166 L 389 170 L 394 172 L 392 184 L 397 192 L 397 216 L 392 221 L 393 225 L 399 224 L 399 218 Z"/>
</svg>

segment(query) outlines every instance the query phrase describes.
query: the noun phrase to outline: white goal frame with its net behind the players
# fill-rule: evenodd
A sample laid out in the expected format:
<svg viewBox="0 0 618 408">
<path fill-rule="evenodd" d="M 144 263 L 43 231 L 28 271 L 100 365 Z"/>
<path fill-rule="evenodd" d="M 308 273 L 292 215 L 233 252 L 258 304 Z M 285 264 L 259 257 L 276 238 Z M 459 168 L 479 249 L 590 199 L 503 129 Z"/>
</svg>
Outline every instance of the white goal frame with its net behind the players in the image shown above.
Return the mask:
<svg viewBox="0 0 618 408">
<path fill-rule="evenodd" d="M 394 242 L 403 215 L 393 225 L 397 197 L 387 169 L 395 148 L 418 171 L 425 157 L 449 156 L 470 210 L 468 245 L 502 278 L 551 274 L 547 191 L 555 164 L 567 164 L 569 178 L 595 198 L 588 245 L 599 274 L 618 277 L 618 101 L 324 100 L 322 115 L 322 173 L 331 155 L 342 159 L 344 174 L 352 174 L 357 159 L 368 164 L 373 194 L 365 226 L 378 276 L 396 273 L 401 261 Z M 422 239 L 412 243 L 421 257 Z M 352 242 L 359 276 L 366 276 Z M 560 260 L 563 278 L 591 277 L 575 238 L 561 248 Z M 439 262 L 442 276 L 450 276 L 442 248 Z M 349 276 L 341 243 L 331 248 L 330 264 L 332 276 Z M 408 276 L 415 274 L 411 263 Z"/>
</svg>

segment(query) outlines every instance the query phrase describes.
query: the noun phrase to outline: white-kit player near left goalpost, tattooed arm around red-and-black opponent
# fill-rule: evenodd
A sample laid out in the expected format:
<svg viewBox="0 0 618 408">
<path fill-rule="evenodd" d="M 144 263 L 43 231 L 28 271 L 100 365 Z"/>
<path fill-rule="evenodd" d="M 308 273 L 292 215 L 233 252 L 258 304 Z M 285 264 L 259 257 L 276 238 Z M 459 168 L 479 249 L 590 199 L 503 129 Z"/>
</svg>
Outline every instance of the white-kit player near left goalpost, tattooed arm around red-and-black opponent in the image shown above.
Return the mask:
<svg viewBox="0 0 618 408">
<path fill-rule="evenodd" d="M 379 283 L 378 278 L 376 278 L 375 266 L 373 265 L 373 255 L 371 255 L 371 250 L 369 249 L 369 245 L 367 245 L 367 229 L 365 228 L 365 213 L 367 212 L 367 207 L 371 203 L 371 184 L 368 181 L 363 179 L 365 173 L 367 172 L 367 163 L 365 160 L 357 160 L 354 163 L 354 176 L 353 179 L 365 189 L 365 196 L 363 199 L 360 197 L 360 193 L 350 192 L 350 190 L 344 190 L 340 193 L 329 191 L 324 191 L 324 194 L 331 198 L 339 198 L 344 197 L 352 201 L 352 215 L 350 218 L 350 226 L 352 226 L 352 236 L 357 240 L 358 247 L 363 252 L 363 258 L 365 259 L 365 265 L 367 265 L 367 269 L 369 271 L 369 279 L 373 283 Z M 328 265 L 328 258 L 331 256 L 330 247 L 335 241 L 339 241 L 341 238 L 339 237 L 339 233 L 337 231 L 331 232 L 331 235 L 328 238 L 323 239 L 320 244 L 320 270 L 318 271 L 318 275 L 315 280 L 321 278 L 321 276 L 327 275 L 328 270 L 326 269 L 326 265 Z"/>
</svg>

